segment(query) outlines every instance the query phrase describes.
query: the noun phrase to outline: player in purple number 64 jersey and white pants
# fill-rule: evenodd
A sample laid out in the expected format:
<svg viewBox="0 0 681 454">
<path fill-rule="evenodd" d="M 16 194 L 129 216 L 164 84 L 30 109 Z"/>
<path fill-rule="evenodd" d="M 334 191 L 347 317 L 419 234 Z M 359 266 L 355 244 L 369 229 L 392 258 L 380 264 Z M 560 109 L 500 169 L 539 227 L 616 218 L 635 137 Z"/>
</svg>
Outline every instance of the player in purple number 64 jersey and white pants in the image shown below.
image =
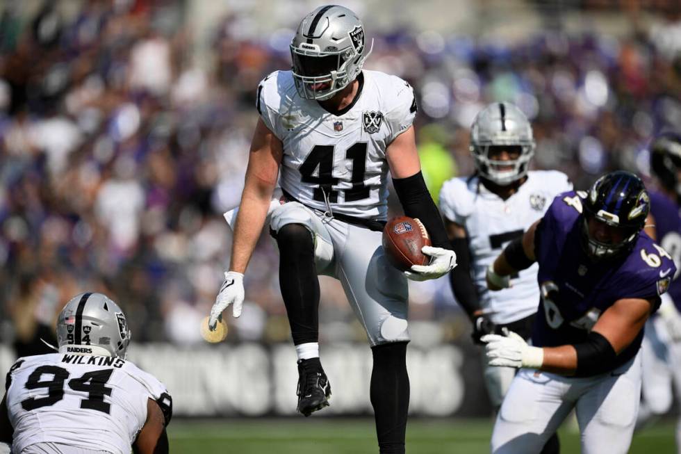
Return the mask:
<svg viewBox="0 0 681 454">
<path fill-rule="evenodd" d="M 539 263 L 532 346 L 486 334 L 491 366 L 521 368 L 504 398 L 493 453 L 539 453 L 575 409 L 582 453 L 626 453 L 641 393 L 643 325 L 676 272 L 643 227 L 650 198 L 629 172 L 555 198 L 488 268 L 489 289 Z"/>
</svg>

